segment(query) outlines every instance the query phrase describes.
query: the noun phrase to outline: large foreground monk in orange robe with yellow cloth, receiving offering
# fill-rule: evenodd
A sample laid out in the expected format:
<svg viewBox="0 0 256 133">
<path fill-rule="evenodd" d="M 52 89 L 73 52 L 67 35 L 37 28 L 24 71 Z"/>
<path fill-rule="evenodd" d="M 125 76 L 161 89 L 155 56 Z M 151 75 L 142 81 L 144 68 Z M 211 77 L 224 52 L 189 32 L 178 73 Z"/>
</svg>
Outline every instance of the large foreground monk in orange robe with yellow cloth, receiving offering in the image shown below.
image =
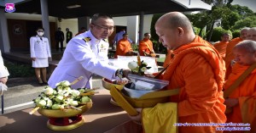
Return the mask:
<svg viewBox="0 0 256 133">
<path fill-rule="evenodd" d="M 186 125 L 225 123 L 223 59 L 208 42 L 195 36 L 189 19 L 182 13 L 164 14 L 157 20 L 155 30 L 159 41 L 173 50 L 171 64 L 160 79 L 170 81 L 166 89 L 180 89 L 169 101 L 177 103 L 177 108 L 170 103 L 159 103 L 154 108 L 137 109 L 140 114 L 130 116 L 131 119 L 141 118 L 146 133 L 171 132 L 173 128 L 178 128 L 179 133 L 222 132 L 216 130 L 218 125 Z M 174 108 L 178 123 L 184 126 L 169 125 L 175 118 L 171 115 Z"/>
</svg>

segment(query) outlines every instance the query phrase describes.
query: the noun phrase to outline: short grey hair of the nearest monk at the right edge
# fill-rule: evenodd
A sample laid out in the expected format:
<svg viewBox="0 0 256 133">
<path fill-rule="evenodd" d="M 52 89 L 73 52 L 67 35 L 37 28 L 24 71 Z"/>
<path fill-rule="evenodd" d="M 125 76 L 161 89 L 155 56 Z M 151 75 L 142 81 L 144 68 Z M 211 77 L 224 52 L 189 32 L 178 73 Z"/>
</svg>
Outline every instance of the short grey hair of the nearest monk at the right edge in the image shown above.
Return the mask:
<svg viewBox="0 0 256 133">
<path fill-rule="evenodd" d="M 244 40 L 236 44 L 234 48 L 244 49 L 248 53 L 256 53 L 256 42 L 252 40 Z"/>
</svg>

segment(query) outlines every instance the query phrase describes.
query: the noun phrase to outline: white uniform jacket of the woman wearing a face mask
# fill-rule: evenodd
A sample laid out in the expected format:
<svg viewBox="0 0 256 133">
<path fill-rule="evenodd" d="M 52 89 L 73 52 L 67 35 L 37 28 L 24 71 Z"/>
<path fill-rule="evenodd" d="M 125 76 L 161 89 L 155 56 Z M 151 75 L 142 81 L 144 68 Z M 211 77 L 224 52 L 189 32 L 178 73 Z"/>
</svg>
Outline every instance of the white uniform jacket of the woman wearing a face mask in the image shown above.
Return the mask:
<svg viewBox="0 0 256 133">
<path fill-rule="evenodd" d="M 31 58 L 50 58 L 49 41 L 46 37 L 32 36 L 30 38 Z"/>
</svg>

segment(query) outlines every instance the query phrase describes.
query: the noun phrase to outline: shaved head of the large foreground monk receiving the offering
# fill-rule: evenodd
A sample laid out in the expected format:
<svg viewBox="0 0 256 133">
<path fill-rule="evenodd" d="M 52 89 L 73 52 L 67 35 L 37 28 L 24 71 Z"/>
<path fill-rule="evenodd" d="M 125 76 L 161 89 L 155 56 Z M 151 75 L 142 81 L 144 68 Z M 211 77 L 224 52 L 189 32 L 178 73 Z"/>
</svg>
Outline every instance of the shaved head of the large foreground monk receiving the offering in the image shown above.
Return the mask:
<svg viewBox="0 0 256 133">
<path fill-rule="evenodd" d="M 167 49 L 175 50 L 195 39 L 191 22 L 179 12 L 164 14 L 157 20 L 154 28 L 159 42 Z"/>
</svg>

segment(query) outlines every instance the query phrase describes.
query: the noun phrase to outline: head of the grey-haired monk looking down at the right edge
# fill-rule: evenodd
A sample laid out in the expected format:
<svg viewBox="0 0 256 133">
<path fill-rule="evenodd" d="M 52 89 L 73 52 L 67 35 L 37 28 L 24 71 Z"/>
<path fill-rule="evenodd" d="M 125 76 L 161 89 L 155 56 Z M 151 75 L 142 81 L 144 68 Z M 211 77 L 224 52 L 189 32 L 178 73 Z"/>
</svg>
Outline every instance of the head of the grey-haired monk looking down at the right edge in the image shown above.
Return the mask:
<svg viewBox="0 0 256 133">
<path fill-rule="evenodd" d="M 237 64 L 252 65 L 256 63 L 256 42 L 245 40 L 236 44 L 233 54 Z"/>
</svg>

